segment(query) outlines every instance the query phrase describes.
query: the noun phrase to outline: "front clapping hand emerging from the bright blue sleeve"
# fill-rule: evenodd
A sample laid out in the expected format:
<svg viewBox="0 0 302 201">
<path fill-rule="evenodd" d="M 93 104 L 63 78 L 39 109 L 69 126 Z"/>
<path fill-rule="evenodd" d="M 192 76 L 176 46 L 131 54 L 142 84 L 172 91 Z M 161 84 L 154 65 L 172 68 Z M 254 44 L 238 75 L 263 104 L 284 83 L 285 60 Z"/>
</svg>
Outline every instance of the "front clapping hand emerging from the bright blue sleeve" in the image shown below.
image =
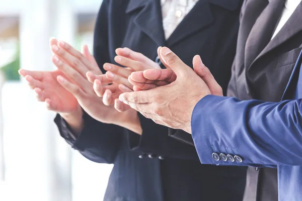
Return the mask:
<svg viewBox="0 0 302 201">
<path fill-rule="evenodd" d="M 158 124 L 191 133 L 193 109 L 201 98 L 211 94 L 206 82 L 213 85 L 215 81 L 199 56 L 193 58 L 193 66 L 205 81 L 169 48 L 162 48 L 160 55 L 164 63 L 175 72 L 175 81 L 150 90 L 126 92 L 119 99 Z M 218 84 L 215 87 L 222 94 L 221 87 Z"/>
</svg>

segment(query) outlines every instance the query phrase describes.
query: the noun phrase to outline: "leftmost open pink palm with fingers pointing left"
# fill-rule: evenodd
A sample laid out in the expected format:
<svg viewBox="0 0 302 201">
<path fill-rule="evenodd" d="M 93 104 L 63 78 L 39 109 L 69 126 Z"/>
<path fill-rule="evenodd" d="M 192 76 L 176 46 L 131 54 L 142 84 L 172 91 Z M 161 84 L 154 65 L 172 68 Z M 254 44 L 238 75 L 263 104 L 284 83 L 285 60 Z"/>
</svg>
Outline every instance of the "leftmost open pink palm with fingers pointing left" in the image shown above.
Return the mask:
<svg viewBox="0 0 302 201">
<path fill-rule="evenodd" d="M 58 41 L 54 38 L 50 39 L 50 47 L 57 45 Z M 93 71 L 101 73 L 94 57 L 89 53 L 87 45 L 84 45 L 82 52 L 85 57 L 94 65 Z M 68 79 L 60 70 L 54 71 L 29 71 L 20 69 L 19 74 L 24 76 L 29 86 L 34 89 L 37 99 L 45 102 L 48 110 L 57 112 L 64 118 L 74 132 L 79 133 L 83 127 L 83 111 L 78 100 L 67 91 L 57 81 L 58 76 Z"/>
</svg>

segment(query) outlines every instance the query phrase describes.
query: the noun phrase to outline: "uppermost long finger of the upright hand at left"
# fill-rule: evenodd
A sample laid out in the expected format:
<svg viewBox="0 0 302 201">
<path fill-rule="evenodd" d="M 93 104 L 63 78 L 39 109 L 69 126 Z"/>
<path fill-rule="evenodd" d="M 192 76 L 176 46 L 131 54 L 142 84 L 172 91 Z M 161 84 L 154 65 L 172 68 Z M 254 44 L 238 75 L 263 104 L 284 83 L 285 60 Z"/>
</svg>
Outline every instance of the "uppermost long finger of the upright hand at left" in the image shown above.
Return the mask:
<svg viewBox="0 0 302 201">
<path fill-rule="evenodd" d="M 94 70 L 95 69 L 95 64 L 92 63 L 88 58 L 86 58 L 84 56 L 84 54 L 82 54 L 81 52 L 79 52 L 78 50 L 74 49 L 71 45 L 69 45 L 68 43 L 64 42 L 64 41 L 59 41 L 58 42 L 58 46 L 60 48 L 62 48 L 63 50 L 65 50 L 68 54 L 66 55 L 71 55 L 73 58 L 73 60 L 71 60 L 70 64 L 74 64 L 74 67 L 77 66 L 78 62 L 80 61 L 80 63 L 84 64 L 86 68 L 88 68 L 89 70 Z M 88 48 L 87 50 L 88 51 Z M 92 55 L 91 55 L 92 56 Z M 69 59 L 71 57 L 67 57 L 66 59 Z M 68 62 L 66 60 L 66 62 Z M 74 63 L 75 62 L 75 63 Z M 68 62 L 69 63 L 69 62 Z M 88 71 L 88 70 L 86 70 Z M 86 73 L 86 72 L 85 72 Z"/>
</svg>

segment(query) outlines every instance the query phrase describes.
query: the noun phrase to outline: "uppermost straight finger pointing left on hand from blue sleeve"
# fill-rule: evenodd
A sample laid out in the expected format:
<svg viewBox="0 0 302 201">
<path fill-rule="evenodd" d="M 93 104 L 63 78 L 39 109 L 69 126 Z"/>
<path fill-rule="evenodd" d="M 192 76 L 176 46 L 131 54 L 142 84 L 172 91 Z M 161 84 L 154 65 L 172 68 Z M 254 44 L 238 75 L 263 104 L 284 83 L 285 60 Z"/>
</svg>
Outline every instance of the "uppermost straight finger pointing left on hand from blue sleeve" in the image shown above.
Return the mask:
<svg viewBox="0 0 302 201">
<path fill-rule="evenodd" d="M 154 90 L 126 92 L 120 94 L 119 100 L 124 103 L 152 103 L 155 100 L 155 96 L 157 96 L 156 94 Z"/>
</svg>

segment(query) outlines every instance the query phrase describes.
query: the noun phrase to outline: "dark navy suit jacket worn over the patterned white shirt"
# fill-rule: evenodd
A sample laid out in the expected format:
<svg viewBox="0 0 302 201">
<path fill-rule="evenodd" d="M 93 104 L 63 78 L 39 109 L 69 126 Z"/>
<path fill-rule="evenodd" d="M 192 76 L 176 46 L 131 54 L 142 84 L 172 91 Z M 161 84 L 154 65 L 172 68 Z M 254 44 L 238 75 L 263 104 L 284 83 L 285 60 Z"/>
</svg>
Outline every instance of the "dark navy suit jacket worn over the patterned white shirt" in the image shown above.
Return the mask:
<svg viewBox="0 0 302 201">
<path fill-rule="evenodd" d="M 104 0 L 95 28 L 95 58 L 102 67 L 114 63 L 116 48 L 128 47 L 155 60 L 157 47 L 168 46 L 189 66 L 194 55 L 201 55 L 226 89 L 241 4 L 200 0 L 166 41 L 160 0 Z M 139 118 L 142 136 L 86 114 L 77 140 L 60 116 L 55 119 L 73 148 L 92 161 L 114 164 L 105 200 L 242 200 L 246 168 L 201 165 L 194 147 L 169 137 L 166 127 Z"/>
</svg>

